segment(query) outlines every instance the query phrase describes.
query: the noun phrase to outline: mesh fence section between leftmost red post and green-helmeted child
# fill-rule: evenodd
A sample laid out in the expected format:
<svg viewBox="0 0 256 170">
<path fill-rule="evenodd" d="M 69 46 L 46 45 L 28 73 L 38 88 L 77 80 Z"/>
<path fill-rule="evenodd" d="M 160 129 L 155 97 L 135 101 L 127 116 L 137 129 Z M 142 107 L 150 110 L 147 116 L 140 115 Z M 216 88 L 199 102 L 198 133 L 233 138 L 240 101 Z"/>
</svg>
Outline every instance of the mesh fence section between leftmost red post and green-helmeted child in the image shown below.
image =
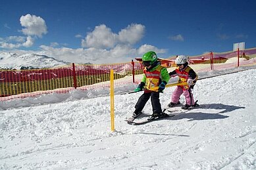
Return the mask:
<svg viewBox="0 0 256 170">
<path fill-rule="evenodd" d="M 138 82 L 143 67 L 140 62 L 128 62 L 120 64 L 90 64 L 76 65 L 76 83 L 78 89 L 86 90 L 98 87 L 109 87 L 110 71 L 114 70 L 115 85 Z"/>
</svg>

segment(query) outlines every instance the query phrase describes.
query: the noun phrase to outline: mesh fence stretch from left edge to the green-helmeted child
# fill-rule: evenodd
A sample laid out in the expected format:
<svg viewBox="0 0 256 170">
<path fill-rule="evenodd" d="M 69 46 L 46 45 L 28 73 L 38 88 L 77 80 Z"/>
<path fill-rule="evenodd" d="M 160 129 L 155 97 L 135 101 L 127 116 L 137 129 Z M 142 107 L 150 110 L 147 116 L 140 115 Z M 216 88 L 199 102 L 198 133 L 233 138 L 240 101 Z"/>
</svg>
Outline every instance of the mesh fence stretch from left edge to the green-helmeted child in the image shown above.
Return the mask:
<svg viewBox="0 0 256 170">
<path fill-rule="evenodd" d="M 109 87 L 110 70 L 115 85 L 129 85 L 141 80 L 140 62 L 121 64 L 88 64 L 40 70 L 1 70 L 0 100 L 36 96 L 45 93 L 67 93 L 73 89 Z M 76 81 L 74 81 L 76 80 Z"/>
</svg>

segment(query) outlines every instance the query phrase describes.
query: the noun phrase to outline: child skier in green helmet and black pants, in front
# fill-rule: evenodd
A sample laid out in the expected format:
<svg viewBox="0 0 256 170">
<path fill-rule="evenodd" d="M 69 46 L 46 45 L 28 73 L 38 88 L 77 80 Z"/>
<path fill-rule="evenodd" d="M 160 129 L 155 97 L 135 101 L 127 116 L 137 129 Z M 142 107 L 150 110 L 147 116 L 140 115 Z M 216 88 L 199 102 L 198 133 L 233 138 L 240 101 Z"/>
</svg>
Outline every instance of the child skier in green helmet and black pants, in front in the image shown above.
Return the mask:
<svg viewBox="0 0 256 170">
<path fill-rule="evenodd" d="M 145 66 L 143 78 L 141 79 L 140 85 L 134 91 L 142 91 L 144 88 L 145 91 L 135 105 L 135 111 L 132 114 L 131 121 L 141 114 L 141 110 L 143 110 L 149 98 L 151 98 L 153 108 L 153 114 L 149 119 L 157 119 L 166 116 L 166 114 L 162 112 L 159 93 L 163 93 L 170 76 L 168 75 L 167 69 L 161 66 L 157 59 L 157 54 L 154 51 L 149 51 L 142 57 L 142 64 Z M 158 91 L 150 90 L 153 87 L 159 87 Z"/>
</svg>

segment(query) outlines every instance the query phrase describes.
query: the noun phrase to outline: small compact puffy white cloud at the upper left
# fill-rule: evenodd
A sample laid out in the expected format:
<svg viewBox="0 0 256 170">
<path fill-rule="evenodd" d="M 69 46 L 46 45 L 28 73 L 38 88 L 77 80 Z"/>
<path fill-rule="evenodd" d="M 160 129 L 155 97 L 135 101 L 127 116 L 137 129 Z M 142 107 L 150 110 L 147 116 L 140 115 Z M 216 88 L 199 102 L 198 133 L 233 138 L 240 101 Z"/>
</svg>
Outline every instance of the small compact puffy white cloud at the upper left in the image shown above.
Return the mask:
<svg viewBox="0 0 256 170">
<path fill-rule="evenodd" d="M 45 20 L 40 16 L 26 14 L 25 16 L 20 17 L 22 33 L 24 35 L 32 35 L 37 37 L 42 37 L 43 34 L 47 33 L 47 26 L 45 24 Z"/>
</svg>

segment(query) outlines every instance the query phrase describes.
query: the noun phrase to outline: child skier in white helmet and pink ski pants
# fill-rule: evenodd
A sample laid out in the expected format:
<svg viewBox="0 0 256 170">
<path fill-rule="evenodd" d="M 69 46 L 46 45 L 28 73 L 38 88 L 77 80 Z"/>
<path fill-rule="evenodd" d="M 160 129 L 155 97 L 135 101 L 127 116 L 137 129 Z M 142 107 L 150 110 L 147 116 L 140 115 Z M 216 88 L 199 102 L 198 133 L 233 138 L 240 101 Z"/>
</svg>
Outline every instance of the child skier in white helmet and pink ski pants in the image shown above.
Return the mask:
<svg viewBox="0 0 256 170">
<path fill-rule="evenodd" d="M 174 71 L 169 73 L 170 77 L 175 77 L 176 75 L 178 75 L 178 83 L 187 82 L 188 85 L 178 85 L 176 87 L 176 89 L 172 93 L 172 100 L 170 104 L 168 104 L 168 106 L 174 107 L 180 104 L 180 95 L 182 95 L 183 93 L 186 98 L 186 104 L 182 106 L 182 109 L 188 110 L 193 107 L 198 107 L 199 104 L 194 101 L 192 93 L 193 86 L 197 81 L 197 74 L 192 68 L 190 68 L 190 66 L 188 66 L 188 57 L 183 55 L 178 56 L 175 60 L 175 63 L 177 67 Z"/>
</svg>

